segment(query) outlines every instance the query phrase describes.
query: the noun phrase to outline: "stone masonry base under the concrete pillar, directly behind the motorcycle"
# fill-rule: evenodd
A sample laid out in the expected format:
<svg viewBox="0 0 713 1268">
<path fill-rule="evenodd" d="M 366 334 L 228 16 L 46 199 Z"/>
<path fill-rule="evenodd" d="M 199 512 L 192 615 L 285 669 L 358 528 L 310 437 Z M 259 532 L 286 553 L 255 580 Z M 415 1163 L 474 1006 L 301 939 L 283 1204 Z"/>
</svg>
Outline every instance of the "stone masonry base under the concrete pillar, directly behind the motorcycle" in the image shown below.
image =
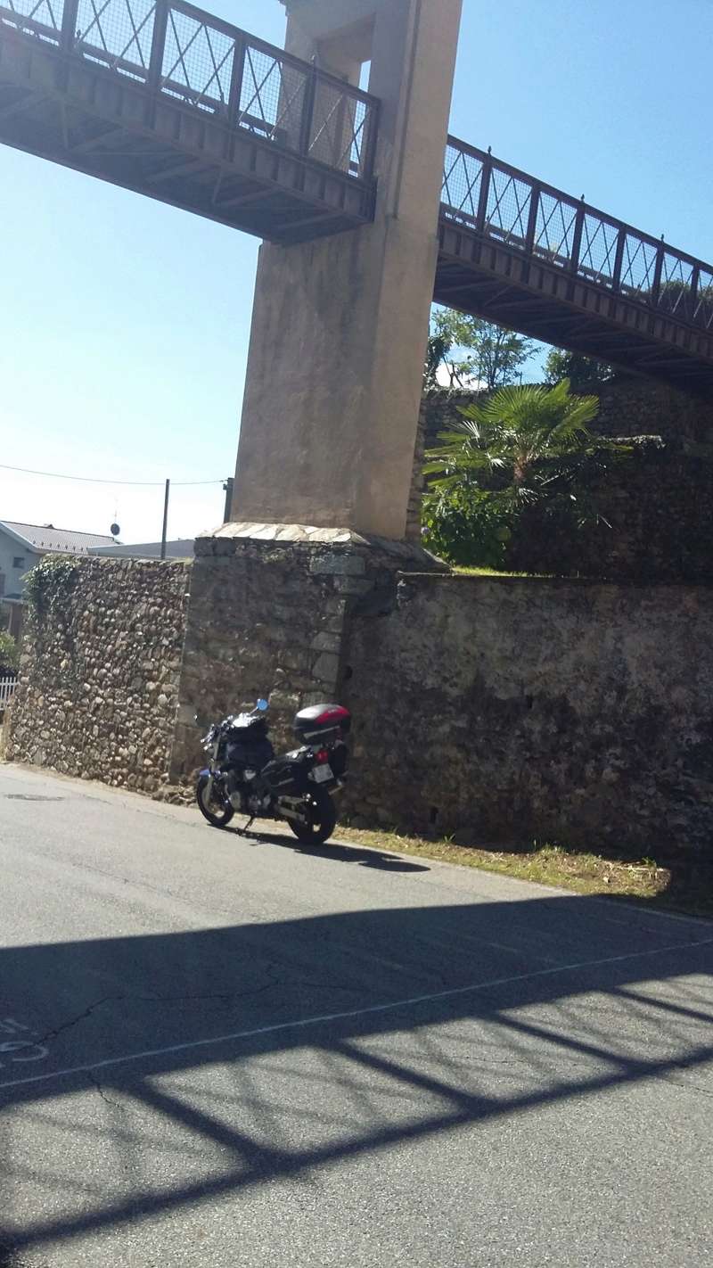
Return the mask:
<svg viewBox="0 0 713 1268">
<path fill-rule="evenodd" d="M 404 562 L 388 544 L 355 544 L 348 533 L 342 543 L 271 536 L 196 540 L 171 765 L 176 781 L 200 761 L 196 714 L 201 721 L 220 719 L 265 696 L 276 747 L 294 747 L 295 713 L 343 695 L 351 615 L 390 596 Z"/>
</svg>

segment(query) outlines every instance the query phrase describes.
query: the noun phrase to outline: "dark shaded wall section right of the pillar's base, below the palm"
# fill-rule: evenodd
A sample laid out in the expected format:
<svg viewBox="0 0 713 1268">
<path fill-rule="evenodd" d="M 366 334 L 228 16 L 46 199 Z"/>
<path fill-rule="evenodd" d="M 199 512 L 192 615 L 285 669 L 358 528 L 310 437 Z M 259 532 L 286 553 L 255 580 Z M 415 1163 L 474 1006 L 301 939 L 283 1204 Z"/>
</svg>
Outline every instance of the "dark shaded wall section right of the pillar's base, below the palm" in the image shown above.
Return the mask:
<svg viewBox="0 0 713 1268">
<path fill-rule="evenodd" d="M 710 844 L 713 588 L 404 576 L 346 661 L 348 805 L 370 822 Z"/>
</svg>

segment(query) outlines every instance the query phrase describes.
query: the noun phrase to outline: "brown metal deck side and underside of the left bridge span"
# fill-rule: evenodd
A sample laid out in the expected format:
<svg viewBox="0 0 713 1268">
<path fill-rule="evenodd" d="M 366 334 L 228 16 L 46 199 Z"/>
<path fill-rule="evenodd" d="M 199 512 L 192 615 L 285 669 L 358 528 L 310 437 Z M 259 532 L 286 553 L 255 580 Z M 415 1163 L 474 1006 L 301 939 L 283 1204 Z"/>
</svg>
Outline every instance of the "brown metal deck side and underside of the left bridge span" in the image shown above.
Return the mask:
<svg viewBox="0 0 713 1268">
<path fill-rule="evenodd" d="M 274 242 L 372 218 L 348 175 L 8 28 L 0 142 Z"/>
</svg>

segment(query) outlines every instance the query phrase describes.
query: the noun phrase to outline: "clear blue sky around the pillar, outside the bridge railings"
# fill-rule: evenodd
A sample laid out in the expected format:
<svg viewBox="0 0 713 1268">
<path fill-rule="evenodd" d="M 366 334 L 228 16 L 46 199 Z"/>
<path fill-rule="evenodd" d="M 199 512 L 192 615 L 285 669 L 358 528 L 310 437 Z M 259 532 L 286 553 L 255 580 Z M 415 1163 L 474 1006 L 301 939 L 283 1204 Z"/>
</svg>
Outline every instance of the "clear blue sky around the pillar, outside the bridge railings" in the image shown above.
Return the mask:
<svg viewBox="0 0 713 1268">
<path fill-rule="evenodd" d="M 437 0 L 433 0 L 437 3 Z M 208 0 L 282 42 L 277 0 Z M 713 0 L 464 0 L 451 131 L 713 259 Z M 0 147 L 0 460 L 232 474 L 257 241 Z M 220 521 L 176 488 L 171 536 Z M 0 517 L 160 535 L 162 491 L 0 470 Z"/>
</svg>

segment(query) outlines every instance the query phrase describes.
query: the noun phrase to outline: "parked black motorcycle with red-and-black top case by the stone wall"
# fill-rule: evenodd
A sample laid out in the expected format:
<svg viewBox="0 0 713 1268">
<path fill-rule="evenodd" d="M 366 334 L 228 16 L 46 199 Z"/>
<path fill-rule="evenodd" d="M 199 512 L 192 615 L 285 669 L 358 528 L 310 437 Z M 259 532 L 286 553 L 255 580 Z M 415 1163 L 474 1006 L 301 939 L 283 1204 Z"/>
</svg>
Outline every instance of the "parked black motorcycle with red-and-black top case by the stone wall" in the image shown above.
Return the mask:
<svg viewBox="0 0 713 1268">
<path fill-rule="evenodd" d="M 267 708 L 258 700 L 252 713 L 232 714 L 205 735 L 209 766 L 195 790 L 200 812 L 214 828 L 244 814 L 243 832 L 253 819 L 285 819 L 299 841 L 320 846 L 337 823 L 333 795 L 347 770 L 351 714 L 341 705 L 303 709 L 294 723 L 300 748 L 275 757 Z"/>
</svg>

